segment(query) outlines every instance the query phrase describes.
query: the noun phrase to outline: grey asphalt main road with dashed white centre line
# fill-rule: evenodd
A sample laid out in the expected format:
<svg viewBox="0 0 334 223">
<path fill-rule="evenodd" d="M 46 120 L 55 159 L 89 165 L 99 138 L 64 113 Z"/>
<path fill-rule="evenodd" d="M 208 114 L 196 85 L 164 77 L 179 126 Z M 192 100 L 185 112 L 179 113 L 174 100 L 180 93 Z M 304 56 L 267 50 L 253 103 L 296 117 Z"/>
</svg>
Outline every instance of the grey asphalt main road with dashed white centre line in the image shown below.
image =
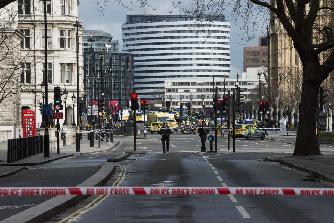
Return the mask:
<svg viewBox="0 0 334 223">
<path fill-rule="evenodd" d="M 153 139 L 137 139 L 137 151 L 146 154 L 117 163 L 106 186 L 332 187 L 259 162 L 293 153 L 294 145 L 287 143 L 295 137 L 284 134 L 236 140 L 236 153 L 228 150 L 226 138 L 218 139 L 218 153 L 200 153 L 198 134 L 180 133 L 171 135 L 170 153 L 162 153 L 160 136 L 148 134 Z M 132 150 L 133 137 L 122 137 L 118 152 Z M 333 154 L 334 147 L 321 145 L 321 151 Z M 333 201 L 330 196 L 90 196 L 49 222 L 331 222 Z"/>
</svg>

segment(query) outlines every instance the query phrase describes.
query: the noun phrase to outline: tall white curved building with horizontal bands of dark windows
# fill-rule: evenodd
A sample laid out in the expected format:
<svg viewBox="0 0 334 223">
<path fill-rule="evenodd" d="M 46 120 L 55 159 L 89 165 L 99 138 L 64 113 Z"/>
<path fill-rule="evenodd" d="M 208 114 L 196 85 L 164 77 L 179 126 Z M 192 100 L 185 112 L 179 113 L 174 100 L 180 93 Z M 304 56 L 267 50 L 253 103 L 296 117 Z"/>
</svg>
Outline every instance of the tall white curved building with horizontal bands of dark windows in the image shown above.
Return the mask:
<svg viewBox="0 0 334 223">
<path fill-rule="evenodd" d="M 157 100 L 167 77 L 229 77 L 230 23 L 224 15 L 207 20 L 127 15 L 123 51 L 134 55 L 134 88 L 140 97 Z"/>
</svg>

